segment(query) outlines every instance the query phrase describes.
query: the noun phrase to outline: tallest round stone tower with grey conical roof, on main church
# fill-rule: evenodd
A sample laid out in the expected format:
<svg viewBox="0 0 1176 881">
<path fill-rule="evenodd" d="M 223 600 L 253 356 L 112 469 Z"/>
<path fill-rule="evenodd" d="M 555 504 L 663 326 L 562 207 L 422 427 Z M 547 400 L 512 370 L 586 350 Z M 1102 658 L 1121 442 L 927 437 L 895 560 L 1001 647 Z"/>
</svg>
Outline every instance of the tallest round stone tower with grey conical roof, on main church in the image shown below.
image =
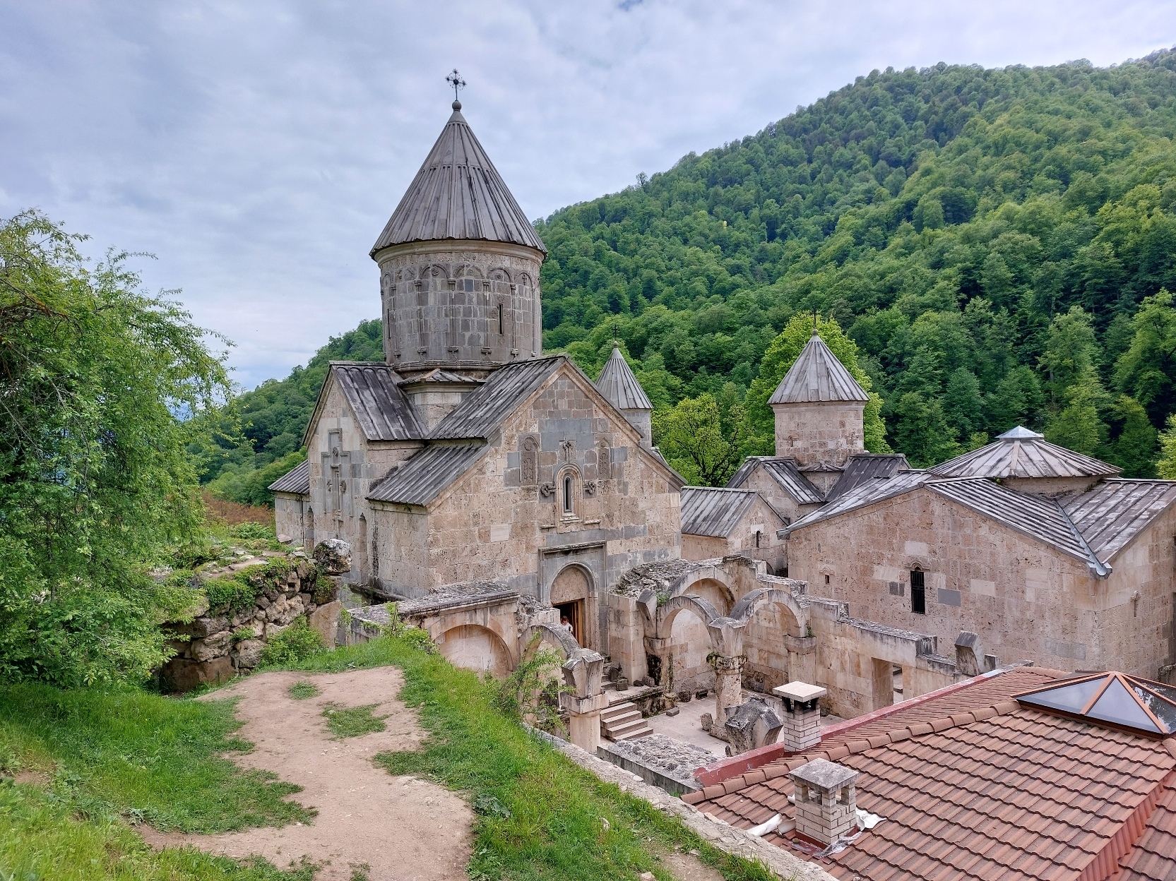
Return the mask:
<svg viewBox="0 0 1176 881">
<path fill-rule="evenodd" d="M 383 228 L 385 361 L 401 376 L 486 376 L 542 352 L 539 268 L 547 256 L 453 102 L 453 115 Z"/>
</svg>

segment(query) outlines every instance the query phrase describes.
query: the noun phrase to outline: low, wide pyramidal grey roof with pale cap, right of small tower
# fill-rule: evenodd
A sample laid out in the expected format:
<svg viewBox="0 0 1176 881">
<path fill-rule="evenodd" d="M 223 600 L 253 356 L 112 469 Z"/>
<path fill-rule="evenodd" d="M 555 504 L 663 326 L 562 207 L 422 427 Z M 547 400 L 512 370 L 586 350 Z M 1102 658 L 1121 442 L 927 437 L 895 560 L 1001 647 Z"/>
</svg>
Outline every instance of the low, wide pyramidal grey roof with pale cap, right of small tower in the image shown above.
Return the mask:
<svg viewBox="0 0 1176 881">
<path fill-rule="evenodd" d="M 1017 425 L 988 446 L 928 469 L 941 477 L 1110 477 L 1120 469 Z"/>
</svg>

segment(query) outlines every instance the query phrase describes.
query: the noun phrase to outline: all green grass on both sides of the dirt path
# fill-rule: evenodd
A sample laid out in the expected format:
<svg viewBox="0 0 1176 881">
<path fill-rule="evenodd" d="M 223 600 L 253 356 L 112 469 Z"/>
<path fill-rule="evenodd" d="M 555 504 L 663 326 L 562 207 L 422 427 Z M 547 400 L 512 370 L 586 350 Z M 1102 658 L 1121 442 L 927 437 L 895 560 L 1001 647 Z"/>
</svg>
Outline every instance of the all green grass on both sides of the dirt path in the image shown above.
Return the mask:
<svg viewBox="0 0 1176 881">
<path fill-rule="evenodd" d="M 774 877 L 532 738 L 490 706 L 477 675 L 409 641 L 386 637 L 294 668 L 386 665 L 405 671 L 401 698 L 417 708 L 428 738 L 420 752 L 386 753 L 377 762 L 469 799 L 477 816 L 474 879 L 636 881 L 653 872 L 664 881 L 670 875 L 657 853 L 674 848 L 696 850 L 733 881 Z M 338 719 L 339 735 L 382 724 L 370 707 L 361 709 Z M 209 833 L 310 819 L 282 800 L 296 787 L 242 772 L 227 758 L 248 748 L 234 739 L 233 711 L 232 700 L 129 688 L 0 687 L 0 881 L 312 881 L 313 867 L 279 872 L 193 849 L 156 853 L 132 828 L 148 821 Z M 42 774 L 39 784 L 13 782 L 31 771 Z"/>
</svg>

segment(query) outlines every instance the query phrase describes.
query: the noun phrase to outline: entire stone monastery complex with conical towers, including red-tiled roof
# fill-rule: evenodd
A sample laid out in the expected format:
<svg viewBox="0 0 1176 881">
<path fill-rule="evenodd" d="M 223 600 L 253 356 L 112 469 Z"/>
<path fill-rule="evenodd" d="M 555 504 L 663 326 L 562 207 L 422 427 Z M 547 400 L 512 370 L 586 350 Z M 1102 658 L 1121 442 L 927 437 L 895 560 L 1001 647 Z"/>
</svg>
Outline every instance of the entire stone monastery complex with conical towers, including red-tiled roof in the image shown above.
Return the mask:
<svg viewBox="0 0 1176 881">
<path fill-rule="evenodd" d="M 1176 877 L 1176 482 L 1021 426 L 869 453 L 814 332 L 776 455 L 686 486 L 619 350 L 542 354 L 544 256 L 454 101 L 372 248 L 385 363 L 332 363 L 270 487 L 279 533 L 350 545 L 347 639 L 393 600 L 459 666 L 546 641 L 573 744 L 794 876 Z M 710 695 L 730 759 L 649 728 Z"/>
</svg>

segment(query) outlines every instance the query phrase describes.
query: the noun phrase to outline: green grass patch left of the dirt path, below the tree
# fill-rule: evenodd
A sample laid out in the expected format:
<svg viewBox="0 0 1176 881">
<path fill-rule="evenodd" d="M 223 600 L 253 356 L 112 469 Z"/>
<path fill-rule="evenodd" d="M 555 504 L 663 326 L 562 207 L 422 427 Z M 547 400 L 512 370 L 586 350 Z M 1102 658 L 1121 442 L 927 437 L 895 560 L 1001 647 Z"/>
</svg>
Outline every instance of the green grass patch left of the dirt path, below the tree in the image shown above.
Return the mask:
<svg viewBox="0 0 1176 881">
<path fill-rule="evenodd" d="M 134 688 L 0 687 L 0 877 L 62 881 L 310 881 L 192 849 L 153 852 L 128 823 L 215 833 L 309 821 L 298 787 L 241 771 L 250 745 L 233 701 Z M 40 772 L 45 786 L 13 784 Z"/>
</svg>

